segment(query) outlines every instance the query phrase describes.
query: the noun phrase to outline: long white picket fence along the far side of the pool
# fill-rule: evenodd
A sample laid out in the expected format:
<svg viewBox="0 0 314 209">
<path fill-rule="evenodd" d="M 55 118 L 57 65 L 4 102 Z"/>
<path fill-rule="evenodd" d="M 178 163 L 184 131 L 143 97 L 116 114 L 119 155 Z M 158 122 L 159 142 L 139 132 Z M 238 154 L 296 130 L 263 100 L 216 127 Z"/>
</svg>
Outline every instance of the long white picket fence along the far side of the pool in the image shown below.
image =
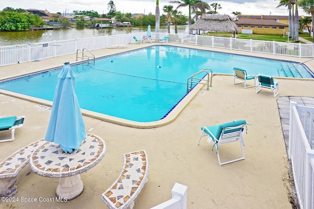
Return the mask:
<svg viewBox="0 0 314 209">
<path fill-rule="evenodd" d="M 52 41 L 17 46 L 0 46 L 0 66 L 75 54 L 78 49 L 82 50 L 83 48 L 92 51 L 96 49 L 107 48 L 110 47 L 110 45 L 117 46 L 131 44 L 134 43 L 133 36 L 141 39 L 144 35 L 146 35 L 145 32 L 136 34 L 89 37 L 64 41 Z M 226 48 L 231 50 L 242 50 L 294 57 L 314 57 L 313 44 L 296 44 L 275 41 L 269 42 L 252 39 L 247 40 L 188 34 L 153 33 L 153 37 L 157 41 L 159 38 L 163 38 L 164 36 L 169 37 L 169 43 Z"/>
</svg>

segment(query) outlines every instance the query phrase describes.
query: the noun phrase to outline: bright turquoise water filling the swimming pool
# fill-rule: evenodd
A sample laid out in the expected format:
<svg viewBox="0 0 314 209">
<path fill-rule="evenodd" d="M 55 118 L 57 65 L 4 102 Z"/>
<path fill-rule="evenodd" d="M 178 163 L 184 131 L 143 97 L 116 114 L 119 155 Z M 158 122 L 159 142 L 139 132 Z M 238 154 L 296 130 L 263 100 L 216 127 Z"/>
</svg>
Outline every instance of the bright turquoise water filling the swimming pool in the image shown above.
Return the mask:
<svg viewBox="0 0 314 209">
<path fill-rule="evenodd" d="M 186 95 L 187 78 L 210 68 L 233 73 L 313 78 L 304 65 L 175 46 L 153 46 L 71 65 L 80 108 L 139 122 L 165 117 Z M 289 68 L 289 69 L 288 69 Z M 53 100 L 61 69 L 0 82 L 0 89 Z M 214 82 L 212 83 L 214 86 Z"/>
</svg>

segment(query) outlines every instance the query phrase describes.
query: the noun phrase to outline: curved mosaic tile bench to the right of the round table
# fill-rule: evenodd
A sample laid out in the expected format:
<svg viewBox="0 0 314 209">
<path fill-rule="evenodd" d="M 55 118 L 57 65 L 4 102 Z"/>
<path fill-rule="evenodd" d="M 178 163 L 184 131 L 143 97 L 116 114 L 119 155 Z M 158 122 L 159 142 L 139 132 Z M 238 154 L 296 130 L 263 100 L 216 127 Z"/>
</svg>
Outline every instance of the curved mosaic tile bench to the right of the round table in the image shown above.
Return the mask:
<svg viewBox="0 0 314 209">
<path fill-rule="evenodd" d="M 130 209 L 148 180 L 148 158 L 145 150 L 123 155 L 123 168 L 117 180 L 101 195 L 109 209 Z"/>
</svg>

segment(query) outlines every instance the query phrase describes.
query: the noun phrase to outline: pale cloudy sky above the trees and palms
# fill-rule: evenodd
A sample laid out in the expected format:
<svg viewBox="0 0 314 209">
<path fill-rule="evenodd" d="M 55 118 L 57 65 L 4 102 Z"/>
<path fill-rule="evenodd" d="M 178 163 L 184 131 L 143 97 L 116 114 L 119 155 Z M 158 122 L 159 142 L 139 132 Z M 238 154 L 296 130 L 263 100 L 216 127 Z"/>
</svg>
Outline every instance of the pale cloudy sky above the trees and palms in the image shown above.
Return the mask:
<svg viewBox="0 0 314 209">
<path fill-rule="evenodd" d="M 227 14 L 233 17 L 232 12 L 241 12 L 242 15 L 288 15 L 287 7 L 276 8 L 279 0 L 225 0 L 225 1 L 208 1 L 209 5 L 213 2 L 219 3 L 221 9 L 218 9 L 219 14 Z M 47 9 L 50 13 L 71 13 L 74 10 L 94 10 L 100 15 L 108 12 L 107 4 L 109 0 L 1 0 L 0 10 L 5 7 L 14 9 Z M 113 0 L 116 5 L 116 10 L 122 13 L 142 13 L 155 15 L 156 0 Z M 173 5 L 174 9 L 178 4 L 171 4 L 169 1 L 159 0 L 159 10 L 162 14 L 164 5 Z M 188 7 L 178 9 L 183 15 L 188 15 Z M 299 8 L 299 15 L 307 15 Z"/>
</svg>

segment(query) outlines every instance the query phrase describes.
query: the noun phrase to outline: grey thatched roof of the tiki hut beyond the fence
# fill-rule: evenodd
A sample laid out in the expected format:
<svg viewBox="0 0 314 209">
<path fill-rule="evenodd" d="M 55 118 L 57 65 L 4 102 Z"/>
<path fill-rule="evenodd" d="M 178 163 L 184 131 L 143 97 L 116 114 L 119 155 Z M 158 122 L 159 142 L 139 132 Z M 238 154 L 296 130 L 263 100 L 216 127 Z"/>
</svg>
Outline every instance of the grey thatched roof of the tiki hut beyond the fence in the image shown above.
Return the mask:
<svg viewBox="0 0 314 209">
<path fill-rule="evenodd" d="M 229 15 L 203 16 L 191 25 L 191 30 L 204 30 L 214 32 L 233 33 L 239 32 L 239 28 Z"/>
</svg>

